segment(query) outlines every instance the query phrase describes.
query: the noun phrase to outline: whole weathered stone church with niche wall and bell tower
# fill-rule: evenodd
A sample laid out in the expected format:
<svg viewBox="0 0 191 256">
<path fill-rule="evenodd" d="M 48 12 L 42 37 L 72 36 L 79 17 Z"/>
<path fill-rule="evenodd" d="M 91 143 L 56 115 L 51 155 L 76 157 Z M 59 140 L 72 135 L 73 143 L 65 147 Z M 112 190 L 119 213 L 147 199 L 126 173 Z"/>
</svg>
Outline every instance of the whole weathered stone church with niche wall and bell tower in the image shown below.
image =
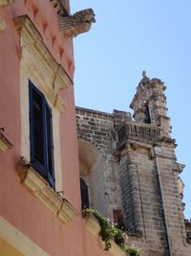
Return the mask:
<svg viewBox="0 0 191 256">
<path fill-rule="evenodd" d="M 143 72 L 133 119 L 76 107 L 82 206 L 117 222 L 143 256 L 190 256 L 165 89 Z"/>
</svg>

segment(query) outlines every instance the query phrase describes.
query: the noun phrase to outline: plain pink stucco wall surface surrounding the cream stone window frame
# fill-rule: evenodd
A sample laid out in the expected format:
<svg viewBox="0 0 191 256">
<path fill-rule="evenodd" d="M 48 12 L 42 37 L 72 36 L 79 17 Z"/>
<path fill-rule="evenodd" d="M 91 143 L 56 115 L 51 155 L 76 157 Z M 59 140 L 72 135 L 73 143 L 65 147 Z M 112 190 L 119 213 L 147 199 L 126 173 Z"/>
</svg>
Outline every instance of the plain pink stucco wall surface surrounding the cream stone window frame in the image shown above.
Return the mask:
<svg viewBox="0 0 191 256">
<path fill-rule="evenodd" d="M 21 156 L 21 117 L 19 42 L 12 18 L 23 14 L 31 17 L 53 58 L 62 64 L 72 79 L 74 75 L 72 40 L 61 40 L 57 16 L 48 0 L 17 0 L 12 6 L 0 9 L 0 15 L 8 24 L 7 29 L 0 32 L 0 128 L 5 128 L 5 135 L 13 145 L 11 151 L 0 152 L 0 215 L 50 255 L 105 255 L 100 241 L 87 230 L 81 217 L 67 224 L 57 220 L 20 184 L 16 173 L 15 166 Z M 45 25 L 47 29 L 43 32 Z M 60 117 L 64 195 L 80 210 L 74 88 L 65 89 L 62 97 L 67 105 Z"/>
</svg>

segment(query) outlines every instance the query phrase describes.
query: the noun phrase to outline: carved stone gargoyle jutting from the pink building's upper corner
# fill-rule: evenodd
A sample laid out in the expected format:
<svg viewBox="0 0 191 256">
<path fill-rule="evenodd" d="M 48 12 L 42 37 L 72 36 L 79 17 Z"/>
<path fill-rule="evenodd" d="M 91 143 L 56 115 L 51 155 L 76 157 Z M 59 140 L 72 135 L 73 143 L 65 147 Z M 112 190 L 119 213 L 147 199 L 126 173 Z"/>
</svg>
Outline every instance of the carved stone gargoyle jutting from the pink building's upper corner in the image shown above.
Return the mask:
<svg viewBox="0 0 191 256">
<path fill-rule="evenodd" d="M 88 32 L 92 22 L 96 22 L 92 9 L 75 12 L 67 17 L 59 15 L 60 34 L 62 38 L 69 38 Z"/>
</svg>

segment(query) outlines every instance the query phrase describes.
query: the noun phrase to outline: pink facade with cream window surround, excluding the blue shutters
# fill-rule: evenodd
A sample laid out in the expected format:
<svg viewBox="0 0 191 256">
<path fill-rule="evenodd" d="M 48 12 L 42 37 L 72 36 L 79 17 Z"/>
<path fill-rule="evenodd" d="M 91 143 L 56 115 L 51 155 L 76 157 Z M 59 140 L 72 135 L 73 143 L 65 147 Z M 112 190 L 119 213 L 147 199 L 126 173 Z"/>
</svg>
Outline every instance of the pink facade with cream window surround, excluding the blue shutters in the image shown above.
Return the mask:
<svg viewBox="0 0 191 256">
<path fill-rule="evenodd" d="M 62 2 L 69 11 L 69 2 Z M 0 254 L 104 255 L 99 237 L 87 229 L 80 214 L 73 42 L 61 38 L 51 1 L 5 0 L 0 5 L 1 20 L 6 22 L 0 31 L 0 128 L 5 129 L 1 132 L 12 145 L 9 151 L 0 151 Z M 55 178 L 59 179 L 55 182 L 56 191 L 34 176 L 25 177 L 30 178 L 25 179 L 28 184 L 21 183 L 23 179 L 16 170 L 21 156 L 31 160 L 30 79 L 53 109 Z M 26 174 L 29 175 L 23 173 Z M 36 188 L 38 191 L 32 191 Z M 53 205 L 58 201 L 62 204 L 62 198 L 78 213 L 67 223 L 60 220 L 63 206 L 56 214 L 53 212 Z"/>
</svg>

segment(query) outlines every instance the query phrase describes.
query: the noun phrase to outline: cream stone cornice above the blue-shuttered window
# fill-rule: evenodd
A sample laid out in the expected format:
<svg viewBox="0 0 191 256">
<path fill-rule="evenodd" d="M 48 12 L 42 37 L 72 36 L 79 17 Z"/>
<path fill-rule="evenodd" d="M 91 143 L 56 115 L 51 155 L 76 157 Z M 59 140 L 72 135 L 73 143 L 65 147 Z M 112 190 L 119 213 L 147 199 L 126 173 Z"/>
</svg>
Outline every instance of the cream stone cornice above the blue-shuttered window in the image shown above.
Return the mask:
<svg viewBox="0 0 191 256">
<path fill-rule="evenodd" d="M 15 18 L 14 24 L 20 37 L 18 54 L 21 61 L 24 61 L 24 66 L 32 73 L 40 74 L 38 79 L 42 81 L 43 93 L 55 107 L 63 111 L 65 104 L 59 96 L 59 90 L 71 86 L 73 81 L 61 64 L 53 58 L 43 42 L 43 37 L 27 15 Z"/>
</svg>

